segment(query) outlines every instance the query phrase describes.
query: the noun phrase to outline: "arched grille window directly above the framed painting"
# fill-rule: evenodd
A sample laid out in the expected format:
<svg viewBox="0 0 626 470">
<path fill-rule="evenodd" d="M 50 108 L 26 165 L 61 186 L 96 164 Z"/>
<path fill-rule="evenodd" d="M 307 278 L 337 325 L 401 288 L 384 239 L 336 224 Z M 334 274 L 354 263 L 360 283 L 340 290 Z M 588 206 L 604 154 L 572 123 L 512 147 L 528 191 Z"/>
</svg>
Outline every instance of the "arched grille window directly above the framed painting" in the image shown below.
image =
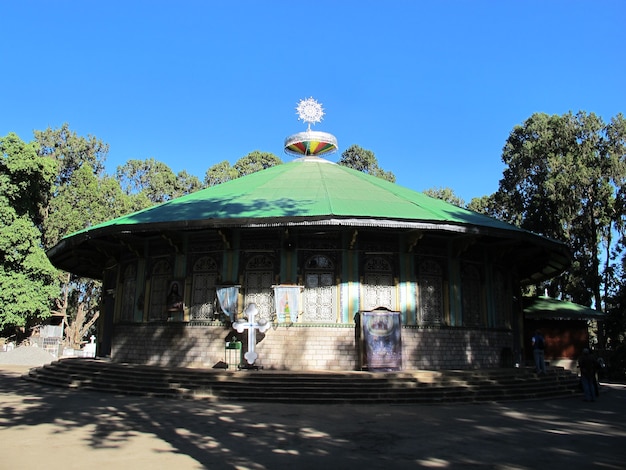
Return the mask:
<svg viewBox="0 0 626 470">
<path fill-rule="evenodd" d="M 363 272 L 362 310 L 385 307 L 395 310 L 393 271 L 391 263 L 381 256 L 365 260 Z"/>
</svg>

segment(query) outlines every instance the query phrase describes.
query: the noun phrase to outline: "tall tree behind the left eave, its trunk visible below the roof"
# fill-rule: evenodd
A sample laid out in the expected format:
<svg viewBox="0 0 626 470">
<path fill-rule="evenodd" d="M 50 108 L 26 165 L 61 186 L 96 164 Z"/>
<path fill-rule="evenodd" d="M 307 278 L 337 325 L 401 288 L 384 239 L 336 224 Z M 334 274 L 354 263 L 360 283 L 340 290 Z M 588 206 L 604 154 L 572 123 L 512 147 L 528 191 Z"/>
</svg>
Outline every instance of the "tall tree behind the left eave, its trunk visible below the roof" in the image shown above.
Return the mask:
<svg viewBox="0 0 626 470">
<path fill-rule="evenodd" d="M 108 144 L 93 136 L 78 136 L 67 124 L 34 135 L 38 155 L 52 161 L 58 175 L 41 223 L 46 248 L 71 232 L 128 211 L 129 198 L 116 180 L 104 174 Z M 100 283 L 68 273 L 59 273 L 58 278 L 61 289 L 55 311 L 63 316 L 66 344 L 77 347 L 76 332 L 86 334 L 86 327 L 99 315 Z"/>
</svg>

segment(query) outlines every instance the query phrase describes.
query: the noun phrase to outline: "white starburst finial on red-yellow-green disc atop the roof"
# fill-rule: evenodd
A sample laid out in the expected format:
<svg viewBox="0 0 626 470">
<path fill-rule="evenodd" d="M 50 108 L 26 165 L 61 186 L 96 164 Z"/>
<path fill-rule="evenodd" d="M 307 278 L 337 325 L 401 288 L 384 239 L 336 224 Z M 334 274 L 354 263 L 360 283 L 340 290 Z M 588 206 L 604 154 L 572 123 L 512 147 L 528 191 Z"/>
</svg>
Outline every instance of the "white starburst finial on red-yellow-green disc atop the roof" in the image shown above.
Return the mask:
<svg viewBox="0 0 626 470">
<path fill-rule="evenodd" d="M 285 139 L 285 153 L 298 157 L 319 156 L 337 151 L 337 138 L 327 132 L 312 131 L 311 124 L 322 121 L 324 109 L 313 97 L 300 100 L 296 107 L 298 120 L 307 123 L 307 130 Z"/>
</svg>

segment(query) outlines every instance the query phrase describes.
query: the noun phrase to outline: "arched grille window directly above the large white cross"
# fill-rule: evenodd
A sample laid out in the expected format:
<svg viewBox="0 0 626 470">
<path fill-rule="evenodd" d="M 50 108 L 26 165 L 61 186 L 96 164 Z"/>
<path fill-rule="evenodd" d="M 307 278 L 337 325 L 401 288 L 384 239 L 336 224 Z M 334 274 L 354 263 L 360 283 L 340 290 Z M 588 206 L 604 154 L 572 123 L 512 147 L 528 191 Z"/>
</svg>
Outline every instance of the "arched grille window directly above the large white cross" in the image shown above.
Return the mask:
<svg viewBox="0 0 626 470">
<path fill-rule="evenodd" d="M 259 310 L 257 319 L 272 319 L 274 312 L 274 262 L 265 255 L 256 255 L 250 258 L 245 270 L 245 309 L 248 304 L 255 303 Z"/>
</svg>

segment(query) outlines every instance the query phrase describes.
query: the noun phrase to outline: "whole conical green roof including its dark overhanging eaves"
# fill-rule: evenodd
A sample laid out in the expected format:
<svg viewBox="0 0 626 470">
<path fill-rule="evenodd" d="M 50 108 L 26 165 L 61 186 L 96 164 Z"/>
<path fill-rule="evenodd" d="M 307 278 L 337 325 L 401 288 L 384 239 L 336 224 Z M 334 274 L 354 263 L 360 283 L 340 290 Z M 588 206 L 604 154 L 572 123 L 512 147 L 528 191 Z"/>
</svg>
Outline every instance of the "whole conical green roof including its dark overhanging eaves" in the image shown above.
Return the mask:
<svg viewBox="0 0 626 470">
<path fill-rule="evenodd" d="M 97 278 L 105 254 L 130 246 L 142 235 L 291 226 L 492 237 L 491 242 L 515 251 L 523 283 L 553 277 L 570 262 L 561 242 L 319 157 L 271 167 L 86 228 L 63 238 L 47 254 L 61 269 Z"/>
</svg>

